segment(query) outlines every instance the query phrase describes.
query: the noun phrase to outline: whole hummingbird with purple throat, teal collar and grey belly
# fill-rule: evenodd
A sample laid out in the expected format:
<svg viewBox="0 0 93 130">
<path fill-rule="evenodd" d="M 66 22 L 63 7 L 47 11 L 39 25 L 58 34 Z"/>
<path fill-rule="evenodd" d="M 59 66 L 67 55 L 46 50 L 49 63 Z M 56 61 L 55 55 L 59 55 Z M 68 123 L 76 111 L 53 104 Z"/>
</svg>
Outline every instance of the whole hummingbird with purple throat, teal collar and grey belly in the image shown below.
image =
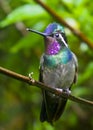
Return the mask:
<svg viewBox="0 0 93 130">
<path fill-rule="evenodd" d="M 40 59 L 39 81 L 69 94 L 71 86 L 77 80 L 78 61 L 68 47 L 64 27 L 54 22 L 49 24 L 44 32 L 30 28 L 28 31 L 44 37 L 45 51 Z M 62 115 L 67 98 L 62 98 L 46 90 L 42 90 L 42 95 L 40 121 L 53 124 Z"/>
</svg>

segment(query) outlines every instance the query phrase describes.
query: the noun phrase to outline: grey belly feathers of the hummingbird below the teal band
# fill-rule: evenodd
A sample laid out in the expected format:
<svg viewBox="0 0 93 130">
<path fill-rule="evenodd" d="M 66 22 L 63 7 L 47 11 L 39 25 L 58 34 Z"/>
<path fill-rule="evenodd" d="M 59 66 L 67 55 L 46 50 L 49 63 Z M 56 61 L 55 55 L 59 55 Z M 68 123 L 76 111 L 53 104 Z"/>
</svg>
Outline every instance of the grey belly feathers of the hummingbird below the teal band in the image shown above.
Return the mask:
<svg viewBox="0 0 93 130">
<path fill-rule="evenodd" d="M 75 66 L 71 63 L 66 65 L 61 64 L 53 69 L 45 67 L 43 71 L 43 81 L 52 87 L 65 88 L 72 84 L 74 75 Z"/>
</svg>

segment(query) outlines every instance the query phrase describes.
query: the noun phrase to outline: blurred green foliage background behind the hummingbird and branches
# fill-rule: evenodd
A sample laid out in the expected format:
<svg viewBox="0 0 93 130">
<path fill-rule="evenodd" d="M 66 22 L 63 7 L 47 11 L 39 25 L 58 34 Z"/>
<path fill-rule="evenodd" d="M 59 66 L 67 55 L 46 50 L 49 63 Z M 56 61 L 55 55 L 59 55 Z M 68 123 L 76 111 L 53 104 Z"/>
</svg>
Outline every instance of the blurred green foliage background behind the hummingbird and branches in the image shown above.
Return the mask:
<svg viewBox="0 0 93 130">
<path fill-rule="evenodd" d="M 93 42 L 93 1 L 42 0 Z M 34 0 L 0 0 L 0 66 L 38 79 L 43 38 L 26 31 L 44 31 L 55 21 Z M 93 100 L 93 48 L 65 27 L 70 49 L 79 62 L 75 96 Z M 41 90 L 0 74 L 0 130 L 93 130 L 93 107 L 68 101 L 63 116 L 52 127 L 39 120 Z"/>
</svg>

